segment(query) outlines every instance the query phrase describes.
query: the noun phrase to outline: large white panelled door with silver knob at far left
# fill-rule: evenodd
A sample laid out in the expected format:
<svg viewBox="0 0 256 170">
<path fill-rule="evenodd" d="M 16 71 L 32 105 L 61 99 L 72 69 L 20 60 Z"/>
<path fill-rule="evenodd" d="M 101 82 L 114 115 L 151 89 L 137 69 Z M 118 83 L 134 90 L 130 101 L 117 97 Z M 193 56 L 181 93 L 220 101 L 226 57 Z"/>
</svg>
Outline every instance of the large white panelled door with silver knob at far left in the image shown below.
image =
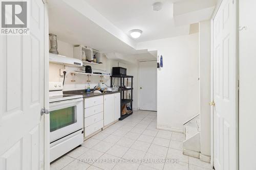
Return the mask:
<svg viewBox="0 0 256 170">
<path fill-rule="evenodd" d="M 43 169 L 44 3 L 29 1 L 30 35 L 0 36 L 0 169 Z"/>
</svg>

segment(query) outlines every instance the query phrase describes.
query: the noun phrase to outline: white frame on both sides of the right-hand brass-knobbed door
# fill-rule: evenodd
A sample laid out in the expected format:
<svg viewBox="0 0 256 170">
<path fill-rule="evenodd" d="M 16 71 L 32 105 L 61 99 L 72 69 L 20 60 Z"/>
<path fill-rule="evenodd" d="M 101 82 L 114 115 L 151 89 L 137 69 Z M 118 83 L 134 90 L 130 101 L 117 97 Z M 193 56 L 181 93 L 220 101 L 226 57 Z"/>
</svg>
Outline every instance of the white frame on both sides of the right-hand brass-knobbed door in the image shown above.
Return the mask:
<svg viewBox="0 0 256 170">
<path fill-rule="evenodd" d="M 215 18 L 215 16 L 216 16 L 216 13 L 218 12 L 218 10 L 219 10 L 219 7 L 220 7 L 220 5 L 221 5 L 221 3 L 222 3 L 222 0 L 221 1 L 219 1 L 218 2 L 218 4 L 216 5 L 216 8 L 215 8 L 215 11 L 214 11 L 214 14 L 212 14 L 212 17 L 211 17 L 211 88 L 210 88 L 210 90 L 211 90 L 211 92 L 210 92 L 210 94 L 211 94 L 211 101 L 214 101 L 214 75 L 213 75 L 213 73 L 214 73 L 214 63 L 213 63 L 213 61 L 214 61 L 214 41 L 213 41 L 213 35 L 214 35 L 214 27 L 213 27 L 213 22 L 214 22 L 214 18 Z M 233 3 L 234 3 L 234 5 L 235 5 L 235 13 L 236 13 L 236 19 L 235 19 L 235 35 L 234 35 L 234 39 L 235 39 L 235 41 L 236 41 L 236 52 L 235 52 L 235 56 L 236 56 L 236 82 L 238 82 L 239 83 L 239 0 L 233 0 Z M 238 84 L 239 85 L 239 84 Z M 238 148 L 238 146 L 239 146 L 239 130 L 238 130 L 238 123 L 239 123 L 239 113 L 238 113 L 238 106 L 239 106 L 239 103 L 238 103 L 238 90 L 237 90 L 237 92 L 236 92 L 236 108 L 235 108 L 235 110 L 236 110 L 236 119 L 235 119 L 235 125 L 236 125 L 236 130 L 235 130 L 235 132 L 236 132 L 236 158 L 237 158 L 237 161 L 236 161 L 236 163 L 237 163 L 237 165 L 236 165 L 236 167 L 237 167 L 237 169 L 239 169 L 239 166 L 238 166 L 238 161 L 239 161 L 239 148 Z M 211 117 L 211 160 L 210 160 L 210 164 L 211 164 L 211 166 L 214 166 L 214 107 L 211 107 L 211 115 L 210 115 L 210 117 Z M 234 169 L 234 170 L 237 170 L 237 169 Z"/>
</svg>

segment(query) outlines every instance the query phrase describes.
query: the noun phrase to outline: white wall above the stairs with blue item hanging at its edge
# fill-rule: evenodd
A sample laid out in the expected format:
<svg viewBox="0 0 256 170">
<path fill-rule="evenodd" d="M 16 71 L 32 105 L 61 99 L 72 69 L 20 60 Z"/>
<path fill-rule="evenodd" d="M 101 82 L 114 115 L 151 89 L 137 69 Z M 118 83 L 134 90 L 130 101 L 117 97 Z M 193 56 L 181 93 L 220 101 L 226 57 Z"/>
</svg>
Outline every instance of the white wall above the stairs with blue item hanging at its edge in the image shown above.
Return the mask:
<svg viewBox="0 0 256 170">
<path fill-rule="evenodd" d="M 157 126 L 183 132 L 183 123 L 199 113 L 198 33 L 138 43 L 157 50 L 163 68 L 157 70 Z"/>
</svg>

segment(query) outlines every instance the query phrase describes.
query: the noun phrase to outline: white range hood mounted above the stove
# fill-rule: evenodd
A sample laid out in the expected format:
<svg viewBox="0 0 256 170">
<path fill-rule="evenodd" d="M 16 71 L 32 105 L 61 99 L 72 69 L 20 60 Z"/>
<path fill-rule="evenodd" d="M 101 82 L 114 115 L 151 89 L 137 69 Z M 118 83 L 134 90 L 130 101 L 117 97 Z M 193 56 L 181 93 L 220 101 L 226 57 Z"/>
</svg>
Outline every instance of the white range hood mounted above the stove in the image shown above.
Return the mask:
<svg viewBox="0 0 256 170">
<path fill-rule="evenodd" d="M 82 66 L 82 61 L 76 58 L 49 53 L 49 62 L 67 66 Z"/>
</svg>

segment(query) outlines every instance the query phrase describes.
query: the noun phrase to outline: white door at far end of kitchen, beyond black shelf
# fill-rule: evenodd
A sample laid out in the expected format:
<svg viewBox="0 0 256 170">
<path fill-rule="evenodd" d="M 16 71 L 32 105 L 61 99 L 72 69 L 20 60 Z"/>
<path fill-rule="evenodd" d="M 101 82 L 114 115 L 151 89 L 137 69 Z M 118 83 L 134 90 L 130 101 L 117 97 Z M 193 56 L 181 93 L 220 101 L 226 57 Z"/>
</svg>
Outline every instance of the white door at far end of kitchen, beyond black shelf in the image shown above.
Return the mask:
<svg viewBox="0 0 256 170">
<path fill-rule="evenodd" d="M 157 61 L 139 63 L 140 110 L 157 111 Z"/>
</svg>

